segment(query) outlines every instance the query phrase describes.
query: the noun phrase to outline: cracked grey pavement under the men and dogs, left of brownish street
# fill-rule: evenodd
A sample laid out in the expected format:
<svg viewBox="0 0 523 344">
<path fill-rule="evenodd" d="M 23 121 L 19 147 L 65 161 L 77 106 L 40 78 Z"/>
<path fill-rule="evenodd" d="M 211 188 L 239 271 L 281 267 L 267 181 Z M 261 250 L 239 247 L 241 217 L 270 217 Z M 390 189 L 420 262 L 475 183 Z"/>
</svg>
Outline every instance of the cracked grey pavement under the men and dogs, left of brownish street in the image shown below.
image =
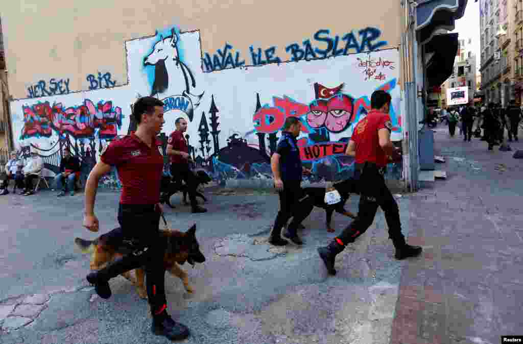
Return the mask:
<svg viewBox="0 0 523 344">
<path fill-rule="evenodd" d="M 166 274 L 168 311 L 191 330 L 184 342 L 348 343 L 374 336 L 382 343 L 390 336 L 402 262 L 392 259 L 381 212 L 362 240 L 339 255 L 332 278 L 316 251 L 335 235 L 326 231 L 323 210 L 304 221 L 303 247 L 274 247 L 267 236 L 277 213 L 275 193 L 207 194 L 208 213 L 191 214 L 177 195 L 176 209 L 165 208 L 170 227 L 185 231 L 197 224 L 207 258 L 194 269 L 182 266 L 194 294 Z M 89 255 L 79 253 L 73 240 L 116 227 L 118 197 L 98 193 L 98 234 L 82 227 L 82 193 L 56 198 L 42 190 L 33 197 L 0 198 L 0 216 L 7 220 L 0 242 L 0 342 L 168 342 L 150 334 L 147 302 L 129 281 L 112 279 L 109 300 L 85 281 Z M 355 212 L 357 201 L 349 200 L 347 209 Z M 334 215 L 337 230 L 347 223 L 347 217 Z"/>
</svg>

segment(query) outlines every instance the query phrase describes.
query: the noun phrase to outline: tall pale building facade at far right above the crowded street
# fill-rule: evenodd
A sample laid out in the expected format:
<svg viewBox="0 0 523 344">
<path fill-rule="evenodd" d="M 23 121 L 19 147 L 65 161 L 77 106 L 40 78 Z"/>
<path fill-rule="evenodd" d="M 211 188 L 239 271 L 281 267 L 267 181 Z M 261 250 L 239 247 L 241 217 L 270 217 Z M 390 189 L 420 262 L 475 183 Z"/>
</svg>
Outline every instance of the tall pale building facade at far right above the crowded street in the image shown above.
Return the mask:
<svg viewBox="0 0 523 344">
<path fill-rule="evenodd" d="M 480 0 L 481 90 L 486 102 L 520 101 L 521 2 Z M 519 27 L 520 28 L 520 27 Z"/>
</svg>

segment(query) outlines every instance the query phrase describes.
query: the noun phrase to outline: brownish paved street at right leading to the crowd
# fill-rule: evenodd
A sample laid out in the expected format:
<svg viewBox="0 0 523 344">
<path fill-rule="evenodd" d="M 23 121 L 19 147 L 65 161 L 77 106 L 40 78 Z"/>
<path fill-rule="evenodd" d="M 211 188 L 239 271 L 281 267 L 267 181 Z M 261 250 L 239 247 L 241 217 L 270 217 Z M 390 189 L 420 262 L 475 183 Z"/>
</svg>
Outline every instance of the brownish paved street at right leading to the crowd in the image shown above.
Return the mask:
<svg viewBox="0 0 523 344">
<path fill-rule="evenodd" d="M 425 252 L 402 270 L 390 342 L 494 344 L 521 335 L 523 160 L 512 156 L 523 143 L 489 152 L 446 128 L 435 142 L 447 179 L 409 197 L 409 241 Z"/>
</svg>

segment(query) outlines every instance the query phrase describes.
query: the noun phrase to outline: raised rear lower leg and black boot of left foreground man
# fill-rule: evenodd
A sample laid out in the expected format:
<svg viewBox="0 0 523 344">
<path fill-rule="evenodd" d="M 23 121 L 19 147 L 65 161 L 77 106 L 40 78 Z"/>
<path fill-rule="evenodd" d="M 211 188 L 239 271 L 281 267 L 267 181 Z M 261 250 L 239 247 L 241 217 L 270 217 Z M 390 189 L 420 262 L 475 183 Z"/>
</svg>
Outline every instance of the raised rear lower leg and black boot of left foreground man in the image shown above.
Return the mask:
<svg viewBox="0 0 523 344">
<path fill-rule="evenodd" d="M 117 277 L 119 274 L 136 269 L 142 263 L 138 256 L 124 256 L 115 260 L 109 265 L 99 271 L 91 272 L 87 275 L 87 282 L 95 286 L 95 291 L 102 299 L 109 299 L 111 297 L 111 288 L 109 287 L 109 280 Z"/>
</svg>

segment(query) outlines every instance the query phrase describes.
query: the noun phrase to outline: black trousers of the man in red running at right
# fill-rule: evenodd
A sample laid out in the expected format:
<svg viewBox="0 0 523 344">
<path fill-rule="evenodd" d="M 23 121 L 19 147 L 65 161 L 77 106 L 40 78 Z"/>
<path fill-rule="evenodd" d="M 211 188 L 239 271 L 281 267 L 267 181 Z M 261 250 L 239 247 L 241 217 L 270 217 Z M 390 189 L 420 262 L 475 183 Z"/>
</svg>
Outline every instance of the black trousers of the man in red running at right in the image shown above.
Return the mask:
<svg viewBox="0 0 523 344">
<path fill-rule="evenodd" d="M 389 227 L 389 238 L 394 247 L 405 245 L 405 237 L 401 233 L 400 210 L 396 200 L 385 184 L 384 171 L 372 163 L 356 167 L 355 177 L 359 178 L 360 201 L 356 219 L 337 236 L 343 244 L 354 243 L 356 238 L 365 233 L 376 216 L 378 207 L 385 213 Z"/>
</svg>

